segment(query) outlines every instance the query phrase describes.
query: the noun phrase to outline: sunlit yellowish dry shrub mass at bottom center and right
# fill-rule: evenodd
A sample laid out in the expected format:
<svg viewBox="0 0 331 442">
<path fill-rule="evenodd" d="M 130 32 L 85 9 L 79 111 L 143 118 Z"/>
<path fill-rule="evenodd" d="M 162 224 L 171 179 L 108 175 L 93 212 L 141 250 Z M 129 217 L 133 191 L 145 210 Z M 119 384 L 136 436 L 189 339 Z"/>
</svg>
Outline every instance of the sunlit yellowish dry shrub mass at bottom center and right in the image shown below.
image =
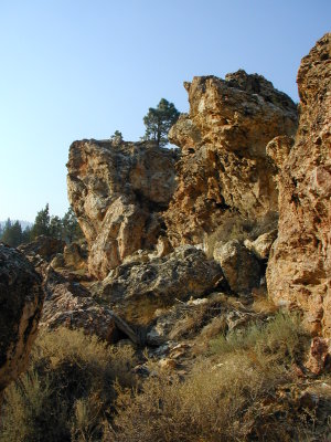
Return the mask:
<svg viewBox="0 0 331 442">
<path fill-rule="evenodd" d="M 298 440 L 301 422 L 275 398 L 307 344 L 297 318 L 284 314 L 222 335 L 183 381 L 159 373 L 141 391 L 121 390 L 108 441 Z"/>
</svg>

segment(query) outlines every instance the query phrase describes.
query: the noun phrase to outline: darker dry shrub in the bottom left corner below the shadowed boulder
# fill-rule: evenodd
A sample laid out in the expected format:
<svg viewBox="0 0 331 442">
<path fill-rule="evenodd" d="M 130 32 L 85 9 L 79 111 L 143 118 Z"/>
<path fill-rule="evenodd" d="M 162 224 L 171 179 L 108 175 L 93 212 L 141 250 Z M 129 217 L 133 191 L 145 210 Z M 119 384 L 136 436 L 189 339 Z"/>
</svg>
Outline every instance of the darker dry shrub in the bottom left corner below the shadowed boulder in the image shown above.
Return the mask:
<svg viewBox="0 0 331 442">
<path fill-rule="evenodd" d="M 132 386 L 134 365 L 130 349 L 115 349 L 83 330 L 41 334 L 30 370 L 6 391 L 0 441 L 99 441 L 114 383 Z"/>
</svg>

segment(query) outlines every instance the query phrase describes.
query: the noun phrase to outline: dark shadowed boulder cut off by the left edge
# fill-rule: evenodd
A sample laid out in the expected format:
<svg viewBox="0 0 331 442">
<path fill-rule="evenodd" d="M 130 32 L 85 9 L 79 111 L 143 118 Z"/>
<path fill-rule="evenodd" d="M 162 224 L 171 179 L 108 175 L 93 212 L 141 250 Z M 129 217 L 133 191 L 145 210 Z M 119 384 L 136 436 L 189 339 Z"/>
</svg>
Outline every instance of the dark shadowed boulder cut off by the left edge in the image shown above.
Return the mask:
<svg viewBox="0 0 331 442">
<path fill-rule="evenodd" d="M 0 394 L 28 364 L 43 298 L 33 266 L 15 249 L 0 244 Z"/>
</svg>

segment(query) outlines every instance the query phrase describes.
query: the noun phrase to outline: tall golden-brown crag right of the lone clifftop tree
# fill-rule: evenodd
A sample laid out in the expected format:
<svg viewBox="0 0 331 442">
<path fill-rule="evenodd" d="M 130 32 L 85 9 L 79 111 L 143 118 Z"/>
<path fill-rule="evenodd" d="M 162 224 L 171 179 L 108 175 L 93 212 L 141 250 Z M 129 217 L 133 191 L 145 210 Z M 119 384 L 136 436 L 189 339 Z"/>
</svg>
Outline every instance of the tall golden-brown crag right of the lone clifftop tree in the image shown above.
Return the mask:
<svg viewBox="0 0 331 442">
<path fill-rule="evenodd" d="M 201 243 L 227 210 L 252 220 L 277 212 L 277 168 L 266 146 L 297 129 L 295 103 L 257 74 L 194 77 L 184 86 L 190 114 L 169 133 L 182 148 L 177 191 L 164 214 L 175 246 Z"/>
</svg>

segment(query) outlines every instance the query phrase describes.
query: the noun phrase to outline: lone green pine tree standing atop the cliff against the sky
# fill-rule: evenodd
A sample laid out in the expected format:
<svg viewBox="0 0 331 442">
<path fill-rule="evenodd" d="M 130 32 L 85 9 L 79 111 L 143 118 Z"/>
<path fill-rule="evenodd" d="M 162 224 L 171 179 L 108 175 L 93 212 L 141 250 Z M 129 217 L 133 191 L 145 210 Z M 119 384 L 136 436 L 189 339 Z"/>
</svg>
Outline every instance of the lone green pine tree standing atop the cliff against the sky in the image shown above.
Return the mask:
<svg viewBox="0 0 331 442">
<path fill-rule="evenodd" d="M 168 133 L 179 116 L 180 113 L 173 103 L 161 98 L 158 107 L 150 107 L 148 114 L 143 117 L 146 133 L 142 139 L 152 139 L 159 147 L 166 146 L 168 144 Z"/>
</svg>

